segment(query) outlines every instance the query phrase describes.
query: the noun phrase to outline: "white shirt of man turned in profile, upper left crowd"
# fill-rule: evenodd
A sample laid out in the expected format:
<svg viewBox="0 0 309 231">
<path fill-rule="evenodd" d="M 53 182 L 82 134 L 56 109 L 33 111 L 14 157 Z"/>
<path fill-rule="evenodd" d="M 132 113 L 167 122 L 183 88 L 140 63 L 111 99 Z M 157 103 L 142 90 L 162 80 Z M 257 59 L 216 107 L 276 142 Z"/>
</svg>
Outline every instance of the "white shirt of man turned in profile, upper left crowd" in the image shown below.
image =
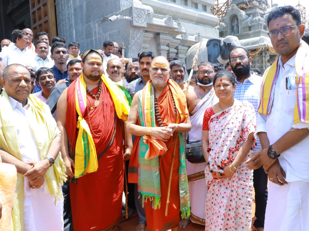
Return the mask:
<svg viewBox="0 0 309 231">
<path fill-rule="evenodd" d="M 12 44 L 12 45 L 11 45 Z M 27 66 L 29 60 L 32 60 L 34 55 L 33 53 L 25 48 L 21 51 L 14 43 L 11 43 L 9 47 L 5 50 L 2 50 L 1 58 L 2 62 L 8 66 L 10 64 L 18 63 L 23 66 Z"/>
</svg>

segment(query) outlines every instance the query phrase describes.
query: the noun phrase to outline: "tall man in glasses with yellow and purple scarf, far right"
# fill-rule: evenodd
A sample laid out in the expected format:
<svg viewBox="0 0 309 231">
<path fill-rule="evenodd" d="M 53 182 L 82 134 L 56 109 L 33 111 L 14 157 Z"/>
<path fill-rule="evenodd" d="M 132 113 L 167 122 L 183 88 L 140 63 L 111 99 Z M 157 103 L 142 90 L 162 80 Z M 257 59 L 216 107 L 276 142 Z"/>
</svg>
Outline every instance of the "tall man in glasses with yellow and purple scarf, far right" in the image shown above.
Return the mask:
<svg viewBox="0 0 309 231">
<path fill-rule="evenodd" d="M 309 47 L 305 26 L 292 6 L 267 18 L 279 58 L 265 71 L 256 132 L 260 161 L 269 178 L 265 231 L 305 231 L 309 227 Z"/>
</svg>

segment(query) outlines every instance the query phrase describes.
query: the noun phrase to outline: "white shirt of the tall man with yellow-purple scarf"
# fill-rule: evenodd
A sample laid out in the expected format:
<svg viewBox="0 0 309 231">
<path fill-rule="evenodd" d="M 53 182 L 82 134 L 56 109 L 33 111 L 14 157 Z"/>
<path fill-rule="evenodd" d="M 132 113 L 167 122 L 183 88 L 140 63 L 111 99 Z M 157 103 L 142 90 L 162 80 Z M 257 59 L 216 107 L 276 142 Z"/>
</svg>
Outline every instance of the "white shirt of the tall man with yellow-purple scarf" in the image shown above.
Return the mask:
<svg viewBox="0 0 309 231">
<path fill-rule="evenodd" d="M 309 124 L 299 122 L 293 124 L 296 90 L 286 90 L 286 77 L 295 74 L 294 55 L 284 65 L 279 57 L 279 73 L 275 83 L 274 98 L 268 115 L 257 115 L 256 132 L 267 132 L 269 143 L 279 140 L 291 128 L 308 128 Z M 265 71 L 266 73 L 267 71 Z M 281 167 L 286 172 L 286 181 L 303 180 L 309 182 L 309 136 L 295 144 L 278 157 Z"/>
</svg>

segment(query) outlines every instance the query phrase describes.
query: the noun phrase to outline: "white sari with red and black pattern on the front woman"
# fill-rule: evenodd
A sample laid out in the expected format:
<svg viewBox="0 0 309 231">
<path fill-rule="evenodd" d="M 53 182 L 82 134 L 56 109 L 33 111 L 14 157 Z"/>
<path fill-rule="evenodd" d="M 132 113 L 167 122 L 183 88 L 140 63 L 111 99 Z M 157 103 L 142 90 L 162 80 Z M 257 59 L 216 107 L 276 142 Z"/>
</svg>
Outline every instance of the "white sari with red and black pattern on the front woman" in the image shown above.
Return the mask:
<svg viewBox="0 0 309 231">
<path fill-rule="evenodd" d="M 204 123 L 208 126 L 203 129 L 209 130 L 210 168 L 222 172 L 226 165 L 233 162 L 249 134 L 255 132 L 256 114 L 252 104 L 247 101 L 239 102 L 217 114 L 209 107 L 205 111 Z M 213 178 L 209 169 L 205 169 L 208 188 L 206 231 L 250 230 L 253 171 L 244 165 L 250 153 L 251 150 L 231 179 Z"/>
</svg>

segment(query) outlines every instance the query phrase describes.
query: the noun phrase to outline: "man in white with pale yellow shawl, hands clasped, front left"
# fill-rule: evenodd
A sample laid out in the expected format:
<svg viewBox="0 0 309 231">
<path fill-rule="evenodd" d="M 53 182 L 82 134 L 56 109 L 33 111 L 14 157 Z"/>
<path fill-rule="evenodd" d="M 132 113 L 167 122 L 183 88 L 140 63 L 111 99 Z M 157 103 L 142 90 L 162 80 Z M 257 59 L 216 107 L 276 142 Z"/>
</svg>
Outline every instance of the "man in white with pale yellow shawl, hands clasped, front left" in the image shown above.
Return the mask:
<svg viewBox="0 0 309 231">
<path fill-rule="evenodd" d="M 2 161 L 14 164 L 18 172 L 14 231 L 63 230 L 61 184 L 65 174 L 59 154 L 60 131 L 49 107 L 30 95 L 30 73 L 25 67 L 7 66 L 2 84 L 0 154 Z"/>
</svg>

